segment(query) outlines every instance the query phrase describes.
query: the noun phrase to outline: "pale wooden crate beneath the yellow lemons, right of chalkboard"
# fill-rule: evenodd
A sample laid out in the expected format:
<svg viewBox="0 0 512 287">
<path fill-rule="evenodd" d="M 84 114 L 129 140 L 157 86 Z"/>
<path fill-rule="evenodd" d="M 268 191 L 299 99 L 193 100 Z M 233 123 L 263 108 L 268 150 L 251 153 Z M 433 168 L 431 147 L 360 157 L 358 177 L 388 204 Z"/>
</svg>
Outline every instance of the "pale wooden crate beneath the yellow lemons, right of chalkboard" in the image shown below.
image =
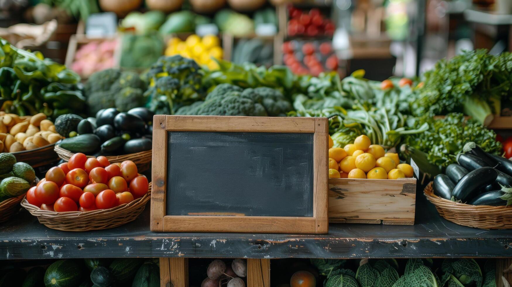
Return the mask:
<svg viewBox="0 0 512 287">
<path fill-rule="evenodd" d="M 329 222 L 413 225 L 416 178 L 329 178 Z"/>
</svg>

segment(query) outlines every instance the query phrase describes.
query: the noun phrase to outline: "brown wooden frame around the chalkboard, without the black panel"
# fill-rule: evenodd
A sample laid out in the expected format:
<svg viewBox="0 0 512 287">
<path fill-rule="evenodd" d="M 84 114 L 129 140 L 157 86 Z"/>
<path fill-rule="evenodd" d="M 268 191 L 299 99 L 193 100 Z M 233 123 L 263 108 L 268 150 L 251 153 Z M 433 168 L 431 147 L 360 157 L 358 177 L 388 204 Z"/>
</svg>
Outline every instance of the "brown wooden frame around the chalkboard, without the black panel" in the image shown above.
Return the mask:
<svg viewBox="0 0 512 287">
<path fill-rule="evenodd" d="M 313 133 L 313 216 L 165 215 L 167 132 Z M 153 117 L 151 231 L 325 234 L 328 218 L 328 121 L 318 117 Z"/>
</svg>

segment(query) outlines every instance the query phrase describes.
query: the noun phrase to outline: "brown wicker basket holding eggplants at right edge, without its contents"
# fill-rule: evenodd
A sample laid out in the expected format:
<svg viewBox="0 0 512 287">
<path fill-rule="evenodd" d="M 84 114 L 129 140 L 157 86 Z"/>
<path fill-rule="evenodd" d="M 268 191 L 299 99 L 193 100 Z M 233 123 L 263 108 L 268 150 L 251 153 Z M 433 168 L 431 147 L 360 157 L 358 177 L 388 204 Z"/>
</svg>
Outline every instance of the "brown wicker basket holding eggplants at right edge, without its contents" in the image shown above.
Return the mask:
<svg viewBox="0 0 512 287">
<path fill-rule="evenodd" d="M 434 194 L 432 181 L 423 193 L 442 217 L 459 225 L 480 229 L 512 228 L 512 207 L 472 206 L 447 200 Z"/>
</svg>

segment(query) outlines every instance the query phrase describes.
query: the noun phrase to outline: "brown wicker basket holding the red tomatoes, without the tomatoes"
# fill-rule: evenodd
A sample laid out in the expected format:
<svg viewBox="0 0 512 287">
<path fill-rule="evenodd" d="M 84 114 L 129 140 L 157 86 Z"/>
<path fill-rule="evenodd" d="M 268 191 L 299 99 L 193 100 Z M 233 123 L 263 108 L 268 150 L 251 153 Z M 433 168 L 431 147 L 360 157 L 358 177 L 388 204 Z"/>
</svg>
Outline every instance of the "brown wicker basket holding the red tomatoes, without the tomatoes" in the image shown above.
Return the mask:
<svg viewBox="0 0 512 287">
<path fill-rule="evenodd" d="M 26 198 L 22 201 L 22 207 L 36 216 L 39 223 L 45 224 L 48 228 L 62 231 L 89 231 L 114 228 L 135 220 L 144 211 L 146 203 L 150 199 L 151 182 L 146 195 L 111 209 L 55 212 L 41 210 L 30 204 Z"/>
</svg>

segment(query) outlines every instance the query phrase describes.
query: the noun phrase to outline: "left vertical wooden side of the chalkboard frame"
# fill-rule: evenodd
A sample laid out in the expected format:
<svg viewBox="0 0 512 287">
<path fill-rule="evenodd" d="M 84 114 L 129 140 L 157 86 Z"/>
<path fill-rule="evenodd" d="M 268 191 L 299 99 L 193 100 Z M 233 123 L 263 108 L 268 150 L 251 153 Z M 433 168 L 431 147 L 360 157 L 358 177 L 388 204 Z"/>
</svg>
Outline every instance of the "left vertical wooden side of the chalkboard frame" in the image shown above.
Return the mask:
<svg viewBox="0 0 512 287">
<path fill-rule="evenodd" d="M 151 231 L 163 231 L 165 216 L 165 192 L 167 178 L 167 131 L 165 130 L 165 115 L 153 117 L 153 158 L 151 191 Z"/>
</svg>

